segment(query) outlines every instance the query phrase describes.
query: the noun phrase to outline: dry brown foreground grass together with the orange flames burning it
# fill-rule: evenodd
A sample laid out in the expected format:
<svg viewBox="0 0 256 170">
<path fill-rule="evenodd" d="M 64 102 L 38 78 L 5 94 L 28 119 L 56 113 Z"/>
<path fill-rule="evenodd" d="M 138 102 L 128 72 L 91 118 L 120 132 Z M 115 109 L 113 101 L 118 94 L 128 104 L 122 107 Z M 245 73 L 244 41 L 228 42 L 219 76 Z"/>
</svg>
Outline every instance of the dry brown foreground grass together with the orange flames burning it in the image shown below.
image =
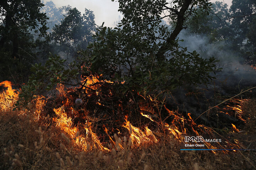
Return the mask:
<svg viewBox="0 0 256 170">
<path fill-rule="evenodd" d="M 60 91 L 62 106 L 52 108 L 53 113 L 49 115 L 45 109 L 46 101 L 42 100 L 42 97 L 38 97 L 37 101 L 32 104 L 27 104 L 28 109 L 10 111 L 12 103 L 15 102 L 11 100 L 14 90 L 10 88 L 10 84 L 6 87 L 7 91 L 3 92 L 0 98 L 2 107 L 0 110 L 0 128 L 2 129 L 0 131 L 0 149 L 3 153 L 0 155 L 0 160 L 2 160 L 0 169 L 197 170 L 255 168 L 255 152 L 252 151 L 227 154 L 222 151 L 216 151 L 215 154 L 211 151 L 181 151 L 184 135 L 188 129 L 185 126 L 189 126 L 191 132 L 196 136 L 206 132 L 208 135 L 213 135 L 213 133 L 207 127 L 194 123 L 190 114 L 186 119 L 177 111 L 167 109 L 164 104 L 151 97 L 146 99 L 141 96 L 144 100 L 135 103 L 138 105 L 138 115 L 147 121 L 139 119 L 139 121 L 131 123 L 128 120 L 131 112 L 129 109 L 128 111 L 123 109 L 127 106 L 123 106 L 120 101 L 116 104 L 116 110 L 113 107 L 107 110 L 113 111 L 112 114 L 119 115 L 119 117 L 114 120 L 111 120 L 113 117 L 110 117 L 111 121 L 107 121 L 109 119 L 106 117 L 109 115 L 103 114 L 102 116 L 97 109 L 110 107 L 104 106 L 107 102 L 103 103 L 102 96 L 98 97 L 99 91 L 90 93 L 91 88 L 89 90 L 85 88 L 89 98 L 85 97 L 83 100 L 87 99 L 87 108 L 81 107 L 81 102 L 72 104 L 74 96 L 67 97 L 66 93 Z M 106 94 L 105 99 L 107 99 L 106 96 L 111 97 Z M 90 105 L 92 104 L 89 103 L 89 99 L 94 99 L 92 102 L 97 107 L 91 107 L 93 108 L 91 109 Z M 82 101 L 82 99 L 80 100 Z M 150 104 L 150 101 L 154 102 L 154 105 Z M 246 104 L 249 106 L 249 103 Z M 161 118 L 163 114 L 160 114 L 158 105 L 165 109 L 167 117 Z M 236 107 L 235 115 L 241 116 L 238 109 L 241 110 L 241 107 Z M 100 112 L 103 111 L 103 109 L 100 110 Z M 252 116 L 249 120 L 254 120 L 253 116 L 255 117 L 256 113 L 251 110 L 247 115 Z M 97 126 L 100 119 L 107 121 L 107 124 L 98 123 Z M 167 119 L 171 120 L 169 124 L 165 122 Z M 113 122 L 117 122 L 117 125 L 114 125 Z M 139 124 L 142 124 L 140 128 L 138 128 Z M 151 125 L 150 128 L 154 128 L 154 131 L 151 131 L 147 125 Z M 255 127 L 255 124 L 251 125 Z M 98 129 L 102 128 L 101 133 L 97 127 Z M 240 130 L 239 133 L 242 132 L 243 130 Z M 230 129 L 229 133 L 234 132 Z M 100 136 L 102 134 L 105 136 Z M 228 137 L 230 138 L 232 135 L 228 135 Z M 235 141 L 235 144 L 227 142 L 228 147 L 233 149 L 247 146 L 249 148 L 252 145 L 244 143 L 244 146 L 241 146 L 239 142 L 238 140 Z M 215 148 L 207 142 L 205 144 L 207 148 Z"/>
</svg>

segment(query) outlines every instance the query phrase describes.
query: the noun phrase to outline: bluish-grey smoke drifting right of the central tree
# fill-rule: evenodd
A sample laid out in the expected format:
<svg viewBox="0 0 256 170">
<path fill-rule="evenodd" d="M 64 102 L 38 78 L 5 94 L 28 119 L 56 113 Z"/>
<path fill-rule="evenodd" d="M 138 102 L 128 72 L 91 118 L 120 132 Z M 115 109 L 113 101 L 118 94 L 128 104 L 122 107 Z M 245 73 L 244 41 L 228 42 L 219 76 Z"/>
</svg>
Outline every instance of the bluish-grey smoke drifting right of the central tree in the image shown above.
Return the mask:
<svg viewBox="0 0 256 170">
<path fill-rule="evenodd" d="M 179 34 L 179 39 L 184 40 L 180 45 L 187 47 L 188 51 L 196 50 L 203 58 L 214 57 L 219 60 L 217 65 L 222 71 L 216 74 L 215 82 L 225 81 L 222 86 L 231 86 L 232 89 L 236 86 L 245 88 L 256 85 L 256 70 L 246 64 L 241 53 L 232 50 L 231 42 L 211 42 L 205 35 L 187 33 L 186 30 Z"/>
</svg>

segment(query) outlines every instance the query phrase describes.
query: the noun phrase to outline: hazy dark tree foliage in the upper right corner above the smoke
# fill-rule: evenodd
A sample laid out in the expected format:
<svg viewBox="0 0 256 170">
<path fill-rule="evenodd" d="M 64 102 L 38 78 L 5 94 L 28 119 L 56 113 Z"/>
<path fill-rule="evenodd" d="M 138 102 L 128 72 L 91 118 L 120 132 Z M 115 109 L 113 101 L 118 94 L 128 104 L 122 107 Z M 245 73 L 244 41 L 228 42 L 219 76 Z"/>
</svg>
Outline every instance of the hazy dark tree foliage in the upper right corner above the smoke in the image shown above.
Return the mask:
<svg viewBox="0 0 256 170">
<path fill-rule="evenodd" d="M 198 10 L 195 17 L 188 18 L 187 35 L 192 33 L 207 36 L 210 43 L 217 43 L 223 49 L 240 54 L 252 65 L 256 61 L 255 17 L 254 1 L 232 1 L 230 8 L 227 4 L 216 1 L 210 11 Z"/>
</svg>

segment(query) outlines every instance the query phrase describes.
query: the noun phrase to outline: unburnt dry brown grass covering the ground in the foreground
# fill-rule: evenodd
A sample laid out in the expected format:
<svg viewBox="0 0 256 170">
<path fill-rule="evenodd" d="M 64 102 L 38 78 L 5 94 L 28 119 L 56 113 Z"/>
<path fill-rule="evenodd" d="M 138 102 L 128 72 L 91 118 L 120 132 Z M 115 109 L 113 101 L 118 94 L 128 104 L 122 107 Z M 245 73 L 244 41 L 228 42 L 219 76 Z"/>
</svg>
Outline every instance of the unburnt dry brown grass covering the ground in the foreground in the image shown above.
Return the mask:
<svg viewBox="0 0 256 170">
<path fill-rule="evenodd" d="M 241 149 L 255 149 L 256 100 L 244 102 L 242 110 L 249 121 L 239 133 L 230 131 L 231 138 L 238 140 Z M 44 127 L 18 112 L 1 112 L 0 129 L 0 169 L 250 170 L 256 167 L 256 151 L 181 151 L 184 143 L 170 136 L 151 146 L 120 152 L 81 152 L 81 148 L 65 142 L 66 147 L 60 148 L 63 139 L 58 128 Z"/>
</svg>

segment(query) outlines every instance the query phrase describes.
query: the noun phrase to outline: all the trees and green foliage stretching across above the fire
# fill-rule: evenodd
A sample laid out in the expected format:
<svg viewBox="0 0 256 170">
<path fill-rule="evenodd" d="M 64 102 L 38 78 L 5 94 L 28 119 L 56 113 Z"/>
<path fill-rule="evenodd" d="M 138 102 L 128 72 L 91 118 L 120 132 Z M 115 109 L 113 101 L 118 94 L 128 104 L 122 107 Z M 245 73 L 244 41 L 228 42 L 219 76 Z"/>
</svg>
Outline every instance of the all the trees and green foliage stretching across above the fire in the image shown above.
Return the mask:
<svg viewBox="0 0 256 170">
<path fill-rule="evenodd" d="M 206 35 L 211 42 L 224 42 L 255 63 L 253 0 L 233 0 L 229 9 L 223 2 L 208 0 L 118 2 L 123 19 L 107 28 L 97 27 L 93 12 L 86 8 L 82 15 L 71 6 L 56 8 L 52 1 L 45 5 L 40 0 L 1 1 L 1 81 L 26 82 L 31 63 L 46 62 L 50 52 L 65 55 L 69 62 L 80 58 L 77 67 L 86 66 L 82 75 L 102 75 L 121 91 L 132 87 L 153 92 L 207 83 L 214 78 L 210 73 L 219 70 L 217 61 L 180 46 L 177 36 L 184 29 L 187 34 Z M 163 11 L 167 11 L 164 17 Z M 164 18 L 169 24 L 162 22 Z M 119 86 L 121 81 L 126 83 Z"/>
</svg>

